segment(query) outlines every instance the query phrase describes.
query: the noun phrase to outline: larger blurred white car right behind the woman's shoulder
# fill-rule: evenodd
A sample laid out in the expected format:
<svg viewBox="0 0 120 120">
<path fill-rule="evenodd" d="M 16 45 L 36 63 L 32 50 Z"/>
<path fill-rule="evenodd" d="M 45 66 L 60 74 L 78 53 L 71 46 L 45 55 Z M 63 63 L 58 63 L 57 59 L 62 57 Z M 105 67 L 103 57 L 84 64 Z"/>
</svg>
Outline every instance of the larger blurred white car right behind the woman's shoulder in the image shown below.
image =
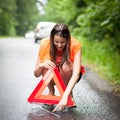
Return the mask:
<svg viewBox="0 0 120 120">
<path fill-rule="evenodd" d="M 38 40 L 49 37 L 50 32 L 55 25 L 55 22 L 39 22 L 35 29 L 35 43 Z"/>
</svg>

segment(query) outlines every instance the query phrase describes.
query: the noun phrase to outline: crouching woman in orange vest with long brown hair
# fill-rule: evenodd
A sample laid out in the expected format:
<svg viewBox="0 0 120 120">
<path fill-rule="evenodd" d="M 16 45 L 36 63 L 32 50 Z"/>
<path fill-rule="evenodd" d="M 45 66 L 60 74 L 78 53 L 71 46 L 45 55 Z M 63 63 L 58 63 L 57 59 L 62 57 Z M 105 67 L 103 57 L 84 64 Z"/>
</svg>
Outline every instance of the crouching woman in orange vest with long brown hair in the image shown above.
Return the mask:
<svg viewBox="0 0 120 120">
<path fill-rule="evenodd" d="M 44 75 L 48 69 L 54 69 L 56 66 L 66 84 L 66 90 L 53 112 L 65 109 L 68 96 L 72 95 L 72 89 L 80 76 L 81 44 L 71 38 L 69 28 L 65 24 L 56 24 L 50 38 L 41 40 L 34 75 Z M 48 89 L 49 94 L 54 95 L 53 81 L 49 83 Z"/>
</svg>

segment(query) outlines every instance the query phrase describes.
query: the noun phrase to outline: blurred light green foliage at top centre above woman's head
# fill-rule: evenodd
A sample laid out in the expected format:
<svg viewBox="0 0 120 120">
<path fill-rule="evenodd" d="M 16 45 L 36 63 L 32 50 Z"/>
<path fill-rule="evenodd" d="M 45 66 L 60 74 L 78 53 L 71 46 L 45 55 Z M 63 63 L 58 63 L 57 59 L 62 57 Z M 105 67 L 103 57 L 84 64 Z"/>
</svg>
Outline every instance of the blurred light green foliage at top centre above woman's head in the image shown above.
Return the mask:
<svg viewBox="0 0 120 120">
<path fill-rule="evenodd" d="M 81 11 L 77 7 L 82 5 L 84 6 L 83 0 L 50 0 L 45 7 L 45 18 L 59 23 L 74 25 L 74 21 Z"/>
</svg>

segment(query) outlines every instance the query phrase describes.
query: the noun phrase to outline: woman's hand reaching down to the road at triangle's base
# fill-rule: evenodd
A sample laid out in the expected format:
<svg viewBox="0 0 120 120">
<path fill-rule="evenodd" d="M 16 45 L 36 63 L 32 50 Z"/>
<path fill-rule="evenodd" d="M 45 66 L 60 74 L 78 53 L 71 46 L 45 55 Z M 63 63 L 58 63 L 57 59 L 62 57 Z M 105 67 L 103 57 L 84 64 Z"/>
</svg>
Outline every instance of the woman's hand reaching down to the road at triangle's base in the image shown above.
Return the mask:
<svg viewBox="0 0 120 120">
<path fill-rule="evenodd" d="M 67 106 L 67 102 L 68 102 L 68 97 L 63 95 L 62 99 L 60 100 L 60 102 L 57 104 L 57 106 L 52 112 L 55 112 L 56 110 L 64 110 Z"/>
</svg>

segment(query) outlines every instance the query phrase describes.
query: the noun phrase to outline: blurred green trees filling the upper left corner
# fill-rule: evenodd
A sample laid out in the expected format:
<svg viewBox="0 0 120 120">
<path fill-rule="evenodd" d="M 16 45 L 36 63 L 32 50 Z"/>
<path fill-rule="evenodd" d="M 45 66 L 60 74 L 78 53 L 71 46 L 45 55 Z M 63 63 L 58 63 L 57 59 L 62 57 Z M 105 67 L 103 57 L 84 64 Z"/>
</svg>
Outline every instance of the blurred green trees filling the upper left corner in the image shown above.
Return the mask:
<svg viewBox="0 0 120 120">
<path fill-rule="evenodd" d="M 0 0 L 0 35 L 24 35 L 38 19 L 36 0 Z"/>
</svg>

